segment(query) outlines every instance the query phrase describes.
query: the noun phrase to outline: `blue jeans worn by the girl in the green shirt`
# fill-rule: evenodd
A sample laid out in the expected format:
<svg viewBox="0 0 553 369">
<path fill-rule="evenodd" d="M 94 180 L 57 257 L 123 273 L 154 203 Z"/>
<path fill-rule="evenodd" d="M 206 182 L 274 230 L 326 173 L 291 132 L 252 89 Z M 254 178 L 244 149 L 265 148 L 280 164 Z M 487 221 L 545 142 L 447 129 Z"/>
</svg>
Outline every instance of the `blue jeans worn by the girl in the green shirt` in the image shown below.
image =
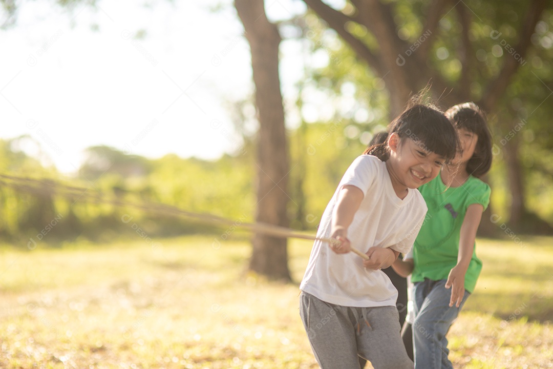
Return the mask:
<svg viewBox="0 0 553 369">
<path fill-rule="evenodd" d="M 446 334 L 470 293 L 465 290 L 461 305 L 449 306 L 451 288 L 445 288 L 446 279 L 416 282 L 413 288 L 415 321 L 413 342 L 415 369 L 452 369 L 447 358 Z"/>
</svg>

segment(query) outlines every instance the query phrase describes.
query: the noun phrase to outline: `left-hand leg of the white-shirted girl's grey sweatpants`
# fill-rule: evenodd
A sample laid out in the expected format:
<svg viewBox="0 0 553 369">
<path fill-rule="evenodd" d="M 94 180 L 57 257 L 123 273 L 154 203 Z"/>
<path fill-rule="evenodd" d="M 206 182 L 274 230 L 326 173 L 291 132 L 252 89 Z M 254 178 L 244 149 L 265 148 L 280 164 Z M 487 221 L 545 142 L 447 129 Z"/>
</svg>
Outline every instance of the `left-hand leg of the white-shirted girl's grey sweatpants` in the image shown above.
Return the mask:
<svg viewBox="0 0 553 369">
<path fill-rule="evenodd" d="M 347 307 L 328 304 L 302 292 L 300 316 L 322 369 L 359 368 L 356 332 Z"/>
</svg>

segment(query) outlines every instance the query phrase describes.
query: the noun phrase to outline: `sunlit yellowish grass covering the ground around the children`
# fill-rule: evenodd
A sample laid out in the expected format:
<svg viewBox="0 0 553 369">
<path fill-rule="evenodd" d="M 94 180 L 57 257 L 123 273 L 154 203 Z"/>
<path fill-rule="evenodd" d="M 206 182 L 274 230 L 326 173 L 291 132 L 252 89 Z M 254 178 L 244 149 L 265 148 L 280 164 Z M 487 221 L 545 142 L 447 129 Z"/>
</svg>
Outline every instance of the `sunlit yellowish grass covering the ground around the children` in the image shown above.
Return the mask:
<svg viewBox="0 0 553 369">
<path fill-rule="evenodd" d="M 552 238 L 479 240 L 484 270 L 453 325 L 455 367 L 553 367 Z M 1 368 L 317 368 L 298 285 L 244 272 L 213 237 L 0 248 Z M 310 242 L 293 240 L 296 281 Z"/>
</svg>

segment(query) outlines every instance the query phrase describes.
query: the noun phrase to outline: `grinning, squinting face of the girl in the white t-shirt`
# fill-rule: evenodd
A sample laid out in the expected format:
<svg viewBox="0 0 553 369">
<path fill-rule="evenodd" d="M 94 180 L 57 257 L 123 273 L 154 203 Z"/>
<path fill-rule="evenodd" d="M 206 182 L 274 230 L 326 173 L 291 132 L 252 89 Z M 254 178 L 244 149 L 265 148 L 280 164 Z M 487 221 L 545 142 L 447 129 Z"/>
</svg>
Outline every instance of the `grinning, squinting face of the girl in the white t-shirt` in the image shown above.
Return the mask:
<svg viewBox="0 0 553 369">
<path fill-rule="evenodd" d="M 446 161 L 441 155 L 427 150 L 419 141 L 400 139 L 396 133 L 392 133 L 388 145 L 388 172 L 396 194 L 402 199 L 408 188 L 419 188 L 436 178 Z"/>
</svg>

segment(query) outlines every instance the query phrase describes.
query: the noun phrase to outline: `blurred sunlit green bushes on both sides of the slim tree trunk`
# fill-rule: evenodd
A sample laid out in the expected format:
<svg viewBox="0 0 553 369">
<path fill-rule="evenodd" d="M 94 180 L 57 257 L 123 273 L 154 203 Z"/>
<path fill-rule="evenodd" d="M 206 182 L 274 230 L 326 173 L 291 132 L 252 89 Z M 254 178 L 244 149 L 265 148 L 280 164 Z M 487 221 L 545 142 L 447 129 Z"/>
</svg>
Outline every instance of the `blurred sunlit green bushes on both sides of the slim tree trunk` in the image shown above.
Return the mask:
<svg viewBox="0 0 553 369">
<path fill-rule="evenodd" d="M 290 226 L 314 230 L 343 173 L 361 155 L 378 126 L 354 119 L 328 123 L 302 123 L 289 131 Z M 170 154 L 147 159 L 105 146 L 87 149 L 76 178 L 63 178 L 23 152 L 0 141 L 4 151 L 2 173 L 27 176 L 13 168 L 33 168 L 33 178 L 53 178 L 58 183 L 87 189 L 78 199 L 37 196 L 22 188 L 0 190 L 0 235 L 25 246 L 30 238 L 53 245 L 78 237 L 107 241 L 121 235 L 143 237 L 225 231 L 227 226 L 202 224 L 173 216 L 148 214 L 133 206 L 115 206 L 111 199 L 130 204 L 155 202 L 189 212 L 213 214 L 228 220 L 252 222 L 255 206 L 253 144 L 241 155 L 218 160 L 182 159 Z M 13 163 L 13 164 L 12 164 Z M 92 201 L 86 195 L 98 195 Z M 55 220 L 56 217 L 58 220 Z M 55 223 L 55 224 L 53 224 Z M 48 229 L 45 230 L 46 226 Z M 46 233 L 46 234 L 44 234 Z"/>
</svg>

